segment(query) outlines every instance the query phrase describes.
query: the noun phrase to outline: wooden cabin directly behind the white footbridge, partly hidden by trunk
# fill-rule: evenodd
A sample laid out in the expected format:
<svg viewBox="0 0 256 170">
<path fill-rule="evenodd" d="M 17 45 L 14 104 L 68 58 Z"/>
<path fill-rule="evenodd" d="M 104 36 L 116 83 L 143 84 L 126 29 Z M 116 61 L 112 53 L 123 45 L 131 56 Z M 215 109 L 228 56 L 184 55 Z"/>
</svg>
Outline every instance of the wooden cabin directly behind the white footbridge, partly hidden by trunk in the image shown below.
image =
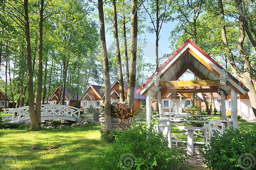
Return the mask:
<svg viewBox="0 0 256 170">
<path fill-rule="evenodd" d="M 49 104 L 51 105 L 56 105 L 57 101 L 60 97 L 60 91 L 61 91 L 61 86 L 58 86 L 55 91 L 52 93 L 52 95 L 49 97 L 48 101 Z M 66 87 L 65 88 L 65 102 L 64 105 L 68 106 L 75 106 L 77 101 L 79 99 L 79 96 L 76 94 L 71 94 L 71 88 Z"/>
</svg>

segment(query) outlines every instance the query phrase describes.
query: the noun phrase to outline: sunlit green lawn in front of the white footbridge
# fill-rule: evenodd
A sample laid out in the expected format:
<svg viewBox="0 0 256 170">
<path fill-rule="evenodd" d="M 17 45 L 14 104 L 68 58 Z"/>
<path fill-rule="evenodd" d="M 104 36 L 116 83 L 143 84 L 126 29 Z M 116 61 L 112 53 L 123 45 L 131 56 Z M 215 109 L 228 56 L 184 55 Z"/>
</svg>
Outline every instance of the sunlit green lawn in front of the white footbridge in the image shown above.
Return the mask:
<svg viewBox="0 0 256 170">
<path fill-rule="evenodd" d="M 0 130 L 0 156 L 15 155 L 15 169 L 98 169 L 97 157 L 111 147 L 102 142 L 100 128 Z M 58 148 L 45 150 L 49 146 Z"/>
</svg>

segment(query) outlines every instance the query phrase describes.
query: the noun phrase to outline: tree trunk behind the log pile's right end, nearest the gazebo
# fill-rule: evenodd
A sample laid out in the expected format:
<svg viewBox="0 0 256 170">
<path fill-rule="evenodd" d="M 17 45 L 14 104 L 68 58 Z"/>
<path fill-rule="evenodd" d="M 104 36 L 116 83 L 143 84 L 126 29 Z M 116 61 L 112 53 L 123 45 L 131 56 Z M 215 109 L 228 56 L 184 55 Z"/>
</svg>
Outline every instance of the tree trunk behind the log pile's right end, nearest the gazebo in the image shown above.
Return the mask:
<svg viewBox="0 0 256 170">
<path fill-rule="evenodd" d="M 127 92 L 127 102 L 134 110 L 134 92 L 136 81 L 136 60 L 137 60 L 137 33 L 138 33 L 138 16 L 137 0 L 131 1 L 131 57 L 129 68 L 129 82 Z"/>
</svg>

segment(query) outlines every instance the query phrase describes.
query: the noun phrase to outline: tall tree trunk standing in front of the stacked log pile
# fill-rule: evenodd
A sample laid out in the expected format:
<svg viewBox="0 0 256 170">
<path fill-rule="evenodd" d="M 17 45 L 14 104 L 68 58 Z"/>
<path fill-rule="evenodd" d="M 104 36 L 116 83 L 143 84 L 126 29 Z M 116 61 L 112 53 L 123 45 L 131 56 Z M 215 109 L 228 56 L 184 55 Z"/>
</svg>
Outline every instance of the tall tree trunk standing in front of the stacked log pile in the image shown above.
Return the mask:
<svg viewBox="0 0 256 170">
<path fill-rule="evenodd" d="M 105 23 L 104 23 L 104 11 L 103 2 L 98 0 L 98 16 L 100 19 L 100 39 L 101 39 L 101 52 L 104 68 L 104 80 L 105 80 L 105 135 L 108 137 L 112 130 L 111 125 L 111 101 L 110 101 L 110 76 L 109 76 L 109 59 L 106 49 L 105 38 Z"/>
</svg>

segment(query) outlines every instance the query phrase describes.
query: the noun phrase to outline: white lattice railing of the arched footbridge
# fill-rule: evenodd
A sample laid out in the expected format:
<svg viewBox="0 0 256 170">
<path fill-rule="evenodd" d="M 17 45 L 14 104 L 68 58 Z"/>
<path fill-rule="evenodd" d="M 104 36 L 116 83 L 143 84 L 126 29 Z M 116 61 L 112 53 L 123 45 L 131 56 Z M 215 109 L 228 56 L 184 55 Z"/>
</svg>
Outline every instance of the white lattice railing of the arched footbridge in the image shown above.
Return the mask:
<svg viewBox="0 0 256 170">
<path fill-rule="evenodd" d="M 67 105 L 41 105 L 41 121 L 62 119 L 76 121 L 80 117 L 81 110 Z M 11 109 L 8 113 L 13 114 L 11 122 L 30 122 L 28 106 Z"/>
</svg>

